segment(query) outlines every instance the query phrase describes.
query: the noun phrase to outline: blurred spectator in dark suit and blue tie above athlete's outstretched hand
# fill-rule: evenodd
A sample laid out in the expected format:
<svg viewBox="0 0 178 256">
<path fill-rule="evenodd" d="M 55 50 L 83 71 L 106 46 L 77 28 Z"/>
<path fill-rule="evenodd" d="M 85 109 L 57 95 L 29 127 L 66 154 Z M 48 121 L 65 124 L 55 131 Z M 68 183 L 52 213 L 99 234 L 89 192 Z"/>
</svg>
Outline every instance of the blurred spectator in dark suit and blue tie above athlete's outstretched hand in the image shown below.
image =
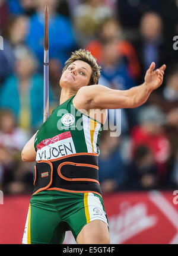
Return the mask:
<svg viewBox="0 0 178 256">
<path fill-rule="evenodd" d="M 152 61 L 157 67 L 161 63 L 169 63 L 169 53 L 164 45 L 163 22 L 155 12 L 146 12 L 140 21 L 139 38 L 134 42 L 136 53 L 141 64 L 141 77 L 138 83 L 144 81 L 143 75 Z M 160 87 L 163 89 L 163 86 Z"/>
</svg>

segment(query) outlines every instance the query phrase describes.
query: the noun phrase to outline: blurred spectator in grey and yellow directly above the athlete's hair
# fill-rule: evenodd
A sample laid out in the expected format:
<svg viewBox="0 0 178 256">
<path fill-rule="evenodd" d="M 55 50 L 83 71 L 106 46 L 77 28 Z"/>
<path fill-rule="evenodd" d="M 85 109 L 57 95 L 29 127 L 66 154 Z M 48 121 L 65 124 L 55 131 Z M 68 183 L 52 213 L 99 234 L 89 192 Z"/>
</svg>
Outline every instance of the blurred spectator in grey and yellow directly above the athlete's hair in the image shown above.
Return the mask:
<svg viewBox="0 0 178 256">
<path fill-rule="evenodd" d="M 113 10 L 105 5 L 104 0 L 85 0 L 84 4 L 77 5 L 74 9 L 73 20 L 78 45 L 84 48 L 94 39 L 102 21 L 113 15 Z"/>
</svg>

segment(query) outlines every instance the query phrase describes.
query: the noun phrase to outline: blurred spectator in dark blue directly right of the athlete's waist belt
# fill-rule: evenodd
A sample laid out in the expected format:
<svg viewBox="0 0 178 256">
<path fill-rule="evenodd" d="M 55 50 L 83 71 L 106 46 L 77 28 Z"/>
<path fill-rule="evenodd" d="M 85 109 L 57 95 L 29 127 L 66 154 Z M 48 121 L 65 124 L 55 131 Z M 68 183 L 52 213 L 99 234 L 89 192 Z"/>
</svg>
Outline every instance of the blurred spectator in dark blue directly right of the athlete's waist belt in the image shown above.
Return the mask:
<svg viewBox="0 0 178 256">
<path fill-rule="evenodd" d="M 122 190 L 125 184 L 125 163 L 119 151 L 120 138 L 110 137 L 110 131 L 103 131 L 100 138 L 98 159 L 99 181 L 103 193 Z"/>
</svg>

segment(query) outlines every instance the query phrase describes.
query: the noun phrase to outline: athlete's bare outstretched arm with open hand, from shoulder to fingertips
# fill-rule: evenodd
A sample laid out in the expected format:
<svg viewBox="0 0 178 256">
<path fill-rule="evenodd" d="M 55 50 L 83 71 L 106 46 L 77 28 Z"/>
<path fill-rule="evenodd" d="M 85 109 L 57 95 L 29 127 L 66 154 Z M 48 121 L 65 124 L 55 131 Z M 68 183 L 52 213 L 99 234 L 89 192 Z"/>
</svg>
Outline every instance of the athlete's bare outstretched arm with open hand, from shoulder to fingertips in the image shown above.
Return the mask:
<svg viewBox="0 0 178 256">
<path fill-rule="evenodd" d="M 85 96 L 88 109 L 136 108 L 144 104 L 151 91 L 163 83 L 166 65 L 164 64 L 155 71 L 154 68 L 155 63 L 152 62 L 141 86 L 135 86 L 129 90 L 113 90 L 100 85 L 86 86 L 81 87 L 78 94 Z"/>
</svg>

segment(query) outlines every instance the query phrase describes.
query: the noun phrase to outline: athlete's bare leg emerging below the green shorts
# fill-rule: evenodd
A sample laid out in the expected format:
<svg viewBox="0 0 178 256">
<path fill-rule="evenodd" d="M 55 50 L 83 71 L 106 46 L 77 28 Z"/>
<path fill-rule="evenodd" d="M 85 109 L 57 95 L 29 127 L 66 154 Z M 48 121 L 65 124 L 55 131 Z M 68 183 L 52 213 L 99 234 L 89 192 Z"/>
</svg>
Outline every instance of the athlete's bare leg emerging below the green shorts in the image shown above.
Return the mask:
<svg viewBox="0 0 178 256">
<path fill-rule="evenodd" d="M 93 220 L 82 227 L 77 244 L 110 244 L 109 229 L 102 220 Z"/>
</svg>

